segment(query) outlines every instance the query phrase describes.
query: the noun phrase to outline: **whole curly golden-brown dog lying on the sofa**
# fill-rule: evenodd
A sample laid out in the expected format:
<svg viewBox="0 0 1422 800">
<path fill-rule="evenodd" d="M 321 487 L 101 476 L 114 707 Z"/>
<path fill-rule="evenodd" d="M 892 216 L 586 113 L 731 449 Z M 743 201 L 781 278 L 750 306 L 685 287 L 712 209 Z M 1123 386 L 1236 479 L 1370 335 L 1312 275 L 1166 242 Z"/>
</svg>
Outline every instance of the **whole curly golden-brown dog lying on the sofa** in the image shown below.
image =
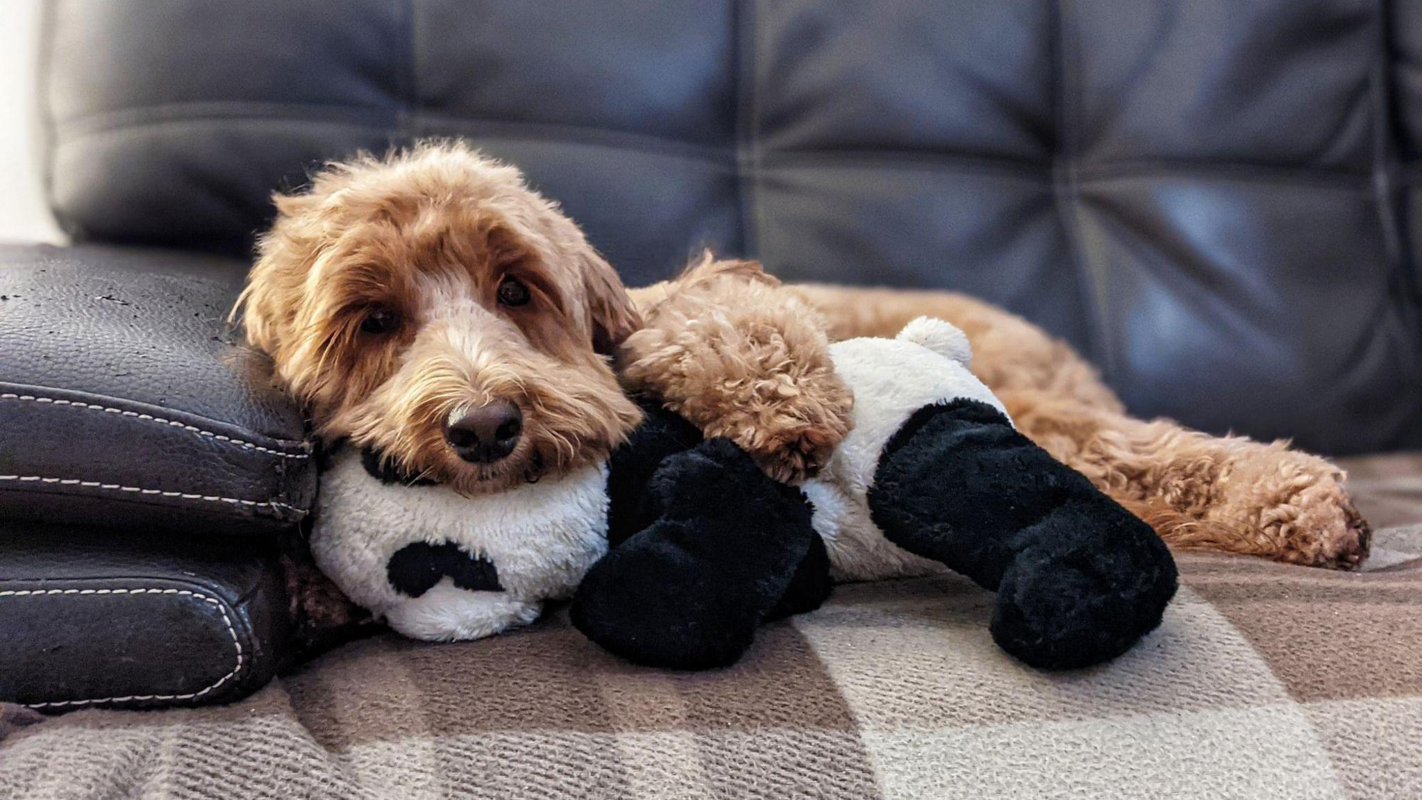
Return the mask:
<svg viewBox="0 0 1422 800">
<path fill-rule="evenodd" d="M 604 458 L 640 420 L 629 390 L 801 480 L 849 431 L 829 342 L 936 316 L 1024 434 L 1169 544 L 1344 569 L 1368 552 L 1327 460 L 1136 420 L 1071 347 L 981 300 L 782 285 L 710 255 L 627 290 L 518 169 L 459 142 L 333 164 L 274 201 L 233 310 L 249 344 L 321 440 L 464 494 Z"/>
</svg>

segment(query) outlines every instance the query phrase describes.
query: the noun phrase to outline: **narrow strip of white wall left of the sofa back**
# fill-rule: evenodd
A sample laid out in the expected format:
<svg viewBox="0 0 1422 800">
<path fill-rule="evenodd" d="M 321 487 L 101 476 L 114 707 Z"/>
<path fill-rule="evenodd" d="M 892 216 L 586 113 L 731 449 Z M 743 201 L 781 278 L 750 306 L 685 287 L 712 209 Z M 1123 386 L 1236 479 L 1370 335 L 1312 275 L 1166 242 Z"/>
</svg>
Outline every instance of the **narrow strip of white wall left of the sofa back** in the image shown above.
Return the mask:
<svg viewBox="0 0 1422 800">
<path fill-rule="evenodd" d="M 0 241 L 58 242 L 40 188 L 40 0 L 0 0 Z"/>
</svg>

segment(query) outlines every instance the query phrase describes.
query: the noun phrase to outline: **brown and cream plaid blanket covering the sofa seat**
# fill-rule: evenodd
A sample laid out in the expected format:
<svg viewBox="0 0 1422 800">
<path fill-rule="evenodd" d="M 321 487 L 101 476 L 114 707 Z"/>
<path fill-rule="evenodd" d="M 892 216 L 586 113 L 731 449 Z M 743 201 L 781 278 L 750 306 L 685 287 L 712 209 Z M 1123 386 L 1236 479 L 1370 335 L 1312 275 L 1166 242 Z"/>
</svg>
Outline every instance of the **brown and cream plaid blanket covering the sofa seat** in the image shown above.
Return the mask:
<svg viewBox="0 0 1422 800">
<path fill-rule="evenodd" d="M 1364 511 L 1372 480 L 1382 520 L 1422 518 L 1422 468 L 1355 474 Z M 1180 567 L 1159 631 L 1059 675 L 947 575 L 839 586 L 710 673 L 621 663 L 562 612 L 383 635 L 226 707 L 11 709 L 0 797 L 1422 797 L 1422 527 L 1361 574 Z"/>
</svg>

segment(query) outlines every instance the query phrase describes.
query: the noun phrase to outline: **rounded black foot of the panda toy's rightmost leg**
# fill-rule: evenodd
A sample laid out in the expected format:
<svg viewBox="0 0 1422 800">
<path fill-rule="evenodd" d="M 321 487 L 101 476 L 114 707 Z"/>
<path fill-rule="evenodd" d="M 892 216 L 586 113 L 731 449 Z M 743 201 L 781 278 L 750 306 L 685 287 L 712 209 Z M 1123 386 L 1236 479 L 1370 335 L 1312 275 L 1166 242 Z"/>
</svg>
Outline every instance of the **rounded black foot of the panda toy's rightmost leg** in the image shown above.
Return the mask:
<svg viewBox="0 0 1422 800">
<path fill-rule="evenodd" d="M 1119 656 L 1160 623 L 1176 568 L 1139 520 L 1068 504 L 1038 525 L 1003 575 L 993 639 L 1030 666 L 1076 669 Z M 1025 531 L 1024 531 L 1025 534 Z"/>
</svg>

